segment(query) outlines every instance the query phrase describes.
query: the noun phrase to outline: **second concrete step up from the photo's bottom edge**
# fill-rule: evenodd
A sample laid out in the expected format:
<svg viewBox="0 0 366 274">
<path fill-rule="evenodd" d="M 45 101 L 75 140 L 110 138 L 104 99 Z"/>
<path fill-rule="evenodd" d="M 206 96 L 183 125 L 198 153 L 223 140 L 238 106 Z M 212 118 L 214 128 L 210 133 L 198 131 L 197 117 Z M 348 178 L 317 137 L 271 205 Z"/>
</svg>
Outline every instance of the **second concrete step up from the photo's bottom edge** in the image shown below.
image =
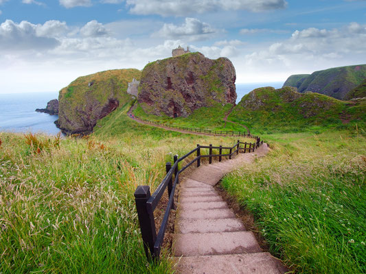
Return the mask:
<svg viewBox="0 0 366 274">
<path fill-rule="evenodd" d="M 174 256 L 261 252 L 253 232 L 174 234 Z"/>
</svg>

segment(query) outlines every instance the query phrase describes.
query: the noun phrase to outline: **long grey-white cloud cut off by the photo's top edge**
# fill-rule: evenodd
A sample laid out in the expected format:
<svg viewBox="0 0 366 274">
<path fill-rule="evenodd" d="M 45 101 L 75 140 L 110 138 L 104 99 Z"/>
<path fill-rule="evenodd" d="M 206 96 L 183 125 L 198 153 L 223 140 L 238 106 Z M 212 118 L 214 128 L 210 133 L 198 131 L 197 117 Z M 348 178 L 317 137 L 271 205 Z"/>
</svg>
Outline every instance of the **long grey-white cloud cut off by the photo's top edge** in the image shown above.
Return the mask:
<svg viewBox="0 0 366 274">
<path fill-rule="evenodd" d="M 286 8 L 284 0 L 126 0 L 130 12 L 135 14 L 160 14 L 163 16 L 185 16 L 189 14 L 220 10 L 249 10 L 262 12 Z"/>
</svg>

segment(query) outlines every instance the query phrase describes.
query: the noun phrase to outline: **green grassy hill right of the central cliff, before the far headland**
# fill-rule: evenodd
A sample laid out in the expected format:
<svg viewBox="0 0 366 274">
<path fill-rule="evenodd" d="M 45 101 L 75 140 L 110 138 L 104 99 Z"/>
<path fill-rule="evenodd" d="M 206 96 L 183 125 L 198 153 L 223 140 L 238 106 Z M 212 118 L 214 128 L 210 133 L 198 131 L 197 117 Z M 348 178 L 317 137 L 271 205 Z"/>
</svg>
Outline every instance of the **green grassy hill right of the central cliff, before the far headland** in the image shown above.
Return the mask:
<svg viewBox="0 0 366 274">
<path fill-rule="evenodd" d="M 245 95 L 229 119 L 259 133 L 298 132 L 353 128 L 356 123 L 363 127 L 365 113 L 363 100 L 346 102 L 314 92 L 302 94 L 290 87 L 266 87 Z"/>
</svg>

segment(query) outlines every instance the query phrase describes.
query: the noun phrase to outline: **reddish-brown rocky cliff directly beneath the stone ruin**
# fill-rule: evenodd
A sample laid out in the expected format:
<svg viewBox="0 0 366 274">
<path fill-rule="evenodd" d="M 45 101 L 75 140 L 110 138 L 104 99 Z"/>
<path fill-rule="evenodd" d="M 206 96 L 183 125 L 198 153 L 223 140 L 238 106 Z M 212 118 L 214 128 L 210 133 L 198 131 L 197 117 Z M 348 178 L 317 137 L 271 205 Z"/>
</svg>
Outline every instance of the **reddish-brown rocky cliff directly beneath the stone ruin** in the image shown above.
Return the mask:
<svg viewBox="0 0 366 274">
<path fill-rule="evenodd" d="M 188 116 L 192 111 L 236 101 L 236 72 L 227 58 L 201 53 L 158 60 L 142 71 L 138 101 L 148 114 Z"/>
</svg>

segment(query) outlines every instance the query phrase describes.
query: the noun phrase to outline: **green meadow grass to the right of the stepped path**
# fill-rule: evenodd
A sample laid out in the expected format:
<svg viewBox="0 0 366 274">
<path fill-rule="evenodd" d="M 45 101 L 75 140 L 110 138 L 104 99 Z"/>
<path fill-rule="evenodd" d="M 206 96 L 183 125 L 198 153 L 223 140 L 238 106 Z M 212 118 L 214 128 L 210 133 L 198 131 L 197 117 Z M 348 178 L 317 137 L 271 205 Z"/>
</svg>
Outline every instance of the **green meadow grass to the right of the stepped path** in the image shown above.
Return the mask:
<svg viewBox="0 0 366 274">
<path fill-rule="evenodd" d="M 297 273 L 366 273 L 366 142 L 358 132 L 262 136 L 271 152 L 222 186 Z"/>
</svg>

